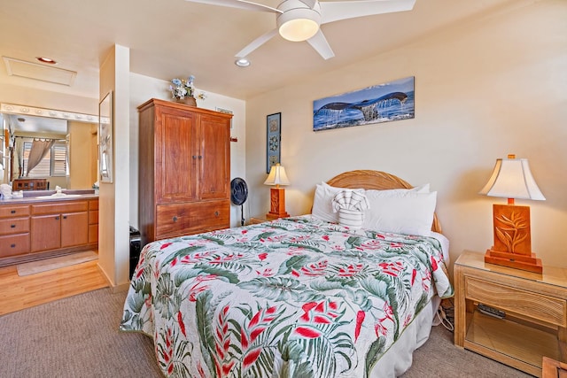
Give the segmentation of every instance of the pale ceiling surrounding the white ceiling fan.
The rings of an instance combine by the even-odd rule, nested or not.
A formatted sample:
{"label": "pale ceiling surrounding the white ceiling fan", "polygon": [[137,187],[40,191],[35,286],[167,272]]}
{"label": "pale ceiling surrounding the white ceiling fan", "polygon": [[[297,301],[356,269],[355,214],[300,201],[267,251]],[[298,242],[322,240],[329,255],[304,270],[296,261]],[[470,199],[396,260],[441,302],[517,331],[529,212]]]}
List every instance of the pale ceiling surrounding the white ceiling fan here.
{"label": "pale ceiling surrounding the white ceiling fan", "polygon": [[0,82],[97,98],[98,67],[116,43],[130,49],[131,72],[167,81],[193,74],[198,89],[247,99],[535,1],[417,0],[410,12],[323,25],[335,58],[323,60],[307,42],[276,36],[252,52],[252,66],[239,68],[234,55],[276,26],[273,14],[184,0],[3,0],[0,54],[31,62],[53,58],[77,75],[66,86],[8,76],[0,66]]}

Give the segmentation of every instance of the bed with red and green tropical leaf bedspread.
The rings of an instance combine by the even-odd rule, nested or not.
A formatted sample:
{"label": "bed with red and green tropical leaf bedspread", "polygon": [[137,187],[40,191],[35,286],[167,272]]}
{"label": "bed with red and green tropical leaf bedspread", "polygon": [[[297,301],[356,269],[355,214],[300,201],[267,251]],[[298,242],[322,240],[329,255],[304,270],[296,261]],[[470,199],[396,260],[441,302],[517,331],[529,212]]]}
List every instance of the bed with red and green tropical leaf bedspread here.
{"label": "bed with red and green tropical leaf bedspread", "polygon": [[405,233],[369,228],[392,217],[345,226],[329,212],[338,191],[369,197],[366,212],[422,197],[434,208],[429,188],[359,170],[318,184],[311,214],[149,243],[120,330],[153,338],[165,376],[403,374],[453,296],[447,238],[434,212],[419,229],[392,228]]}

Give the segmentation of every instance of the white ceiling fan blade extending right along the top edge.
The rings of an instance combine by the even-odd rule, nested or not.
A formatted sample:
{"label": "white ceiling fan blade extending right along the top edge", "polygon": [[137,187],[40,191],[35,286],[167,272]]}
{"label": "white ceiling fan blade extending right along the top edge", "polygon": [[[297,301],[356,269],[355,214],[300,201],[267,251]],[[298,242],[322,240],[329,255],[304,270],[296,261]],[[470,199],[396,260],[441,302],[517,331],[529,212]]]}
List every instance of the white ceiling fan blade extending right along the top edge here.
{"label": "white ceiling fan blade extending right along the top edge", "polygon": [[416,0],[361,0],[320,2],[321,24],[374,14],[411,11]]}

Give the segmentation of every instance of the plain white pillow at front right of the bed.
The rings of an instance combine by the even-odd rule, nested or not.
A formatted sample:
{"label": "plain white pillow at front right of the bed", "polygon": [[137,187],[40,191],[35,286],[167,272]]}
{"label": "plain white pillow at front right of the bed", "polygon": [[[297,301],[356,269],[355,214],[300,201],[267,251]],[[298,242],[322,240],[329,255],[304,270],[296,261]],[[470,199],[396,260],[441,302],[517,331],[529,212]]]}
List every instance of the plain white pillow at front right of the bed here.
{"label": "plain white pillow at front right of the bed", "polygon": [[366,190],[369,210],[363,228],[396,234],[423,235],[431,231],[437,192]]}

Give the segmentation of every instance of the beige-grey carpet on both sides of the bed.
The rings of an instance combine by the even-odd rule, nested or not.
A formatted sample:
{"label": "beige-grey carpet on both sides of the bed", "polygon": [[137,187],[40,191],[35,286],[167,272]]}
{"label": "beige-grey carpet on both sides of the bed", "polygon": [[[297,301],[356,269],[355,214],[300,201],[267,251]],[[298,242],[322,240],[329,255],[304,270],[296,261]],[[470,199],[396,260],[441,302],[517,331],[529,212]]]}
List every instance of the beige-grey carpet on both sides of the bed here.
{"label": "beige-grey carpet on both sides of the bed", "polygon": [[[118,330],[125,298],[126,292],[98,289],[0,316],[0,377],[163,378],[151,338]],[[455,347],[441,326],[433,327],[403,375],[468,377],[530,375]]]}

